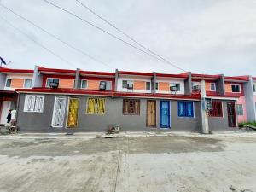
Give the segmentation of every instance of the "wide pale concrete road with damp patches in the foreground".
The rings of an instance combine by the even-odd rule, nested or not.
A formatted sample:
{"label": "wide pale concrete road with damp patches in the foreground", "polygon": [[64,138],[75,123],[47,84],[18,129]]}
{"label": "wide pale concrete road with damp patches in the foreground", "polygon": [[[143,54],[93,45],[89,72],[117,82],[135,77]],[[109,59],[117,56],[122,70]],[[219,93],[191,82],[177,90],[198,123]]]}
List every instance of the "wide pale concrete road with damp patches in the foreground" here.
{"label": "wide pale concrete road with damp patches in the foreground", "polygon": [[0,191],[256,191],[256,136],[2,137]]}

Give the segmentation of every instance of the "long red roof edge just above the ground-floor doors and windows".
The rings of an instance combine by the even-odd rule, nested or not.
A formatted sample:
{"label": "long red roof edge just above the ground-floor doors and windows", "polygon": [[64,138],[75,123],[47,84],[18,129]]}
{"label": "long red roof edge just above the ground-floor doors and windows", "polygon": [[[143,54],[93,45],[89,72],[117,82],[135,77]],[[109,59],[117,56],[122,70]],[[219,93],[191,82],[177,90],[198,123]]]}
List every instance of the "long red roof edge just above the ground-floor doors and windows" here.
{"label": "long red roof edge just above the ground-floor doors and windows", "polygon": [[17,92],[40,92],[40,93],[65,93],[65,94],[79,94],[79,95],[97,95],[97,96],[137,96],[137,97],[156,97],[156,98],[173,98],[173,99],[193,99],[200,100],[200,95],[171,95],[159,93],[127,93],[127,92],[113,92],[113,91],[100,91],[100,90],[73,90],[73,89],[17,89]]}

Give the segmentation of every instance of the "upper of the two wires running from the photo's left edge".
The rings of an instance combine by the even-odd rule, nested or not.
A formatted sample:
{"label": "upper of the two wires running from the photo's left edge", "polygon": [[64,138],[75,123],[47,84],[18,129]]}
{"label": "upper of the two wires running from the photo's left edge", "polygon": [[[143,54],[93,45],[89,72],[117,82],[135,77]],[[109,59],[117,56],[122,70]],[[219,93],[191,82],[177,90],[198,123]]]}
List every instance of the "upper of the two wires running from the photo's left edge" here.
{"label": "upper of the two wires running from the photo's left edge", "polygon": [[[9,9],[8,7],[4,6],[2,3],[0,3],[0,6],[2,6],[4,9],[8,9],[11,13],[13,13],[14,15],[20,17],[22,20],[26,20],[26,22],[30,23],[32,26],[35,26],[35,27],[38,28],[39,30],[41,30],[41,31],[43,31],[43,32],[45,32],[45,33],[47,33],[47,34],[48,34],[49,36],[51,36],[52,38],[57,39],[57,40],[60,41],[62,44],[67,45],[67,47],[78,51],[79,53],[81,53],[81,54],[83,54],[83,55],[89,57],[89,58],[90,58],[91,60],[93,60],[93,61],[99,62],[99,63],[101,63],[102,65],[105,65],[105,66],[107,66],[107,67],[110,67],[110,66],[108,66],[106,63],[104,63],[104,62],[102,62],[102,61],[99,61],[99,60],[97,60],[96,58],[94,58],[93,56],[90,56],[89,54],[85,53],[83,50],[74,47],[72,44],[68,44],[67,42],[65,42],[65,41],[62,40],[61,38],[58,38],[57,36],[55,36],[53,33],[49,32],[49,31],[45,30],[44,28],[42,28],[41,26],[38,26],[37,24],[33,23],[31,20],[26,19],[26,17],[24,17],[24,16],[22,16],[22,15],[16,13],[13,9]],[[110,67],[110,68],[111,68],[111,67]]]}

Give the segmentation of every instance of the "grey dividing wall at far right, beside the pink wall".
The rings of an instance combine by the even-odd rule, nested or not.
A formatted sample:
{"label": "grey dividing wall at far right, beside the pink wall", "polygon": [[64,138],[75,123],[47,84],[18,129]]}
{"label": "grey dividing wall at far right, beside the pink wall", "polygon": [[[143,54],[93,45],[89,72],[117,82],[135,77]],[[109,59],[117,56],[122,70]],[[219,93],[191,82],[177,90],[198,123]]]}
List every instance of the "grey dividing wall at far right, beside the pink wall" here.
{"label": "grey dividing wall at far right, beside the pink wall", "polygon": [[247,121],[256,120],[256,109],[253,96],[253,78],[249,76],[247,83],[244,83],[244,94],[247,108]]}

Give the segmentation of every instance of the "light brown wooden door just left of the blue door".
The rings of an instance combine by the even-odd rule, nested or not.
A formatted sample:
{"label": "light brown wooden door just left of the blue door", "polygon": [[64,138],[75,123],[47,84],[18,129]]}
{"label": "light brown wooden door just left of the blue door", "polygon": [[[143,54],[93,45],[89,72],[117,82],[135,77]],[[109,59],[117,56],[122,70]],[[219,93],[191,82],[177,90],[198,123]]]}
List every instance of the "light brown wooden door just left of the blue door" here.
{"label": "light brown wooden door just left of the blue door", "polygon": [[156,102],[154,100],[147,101],[147,126],[156,127]]}

